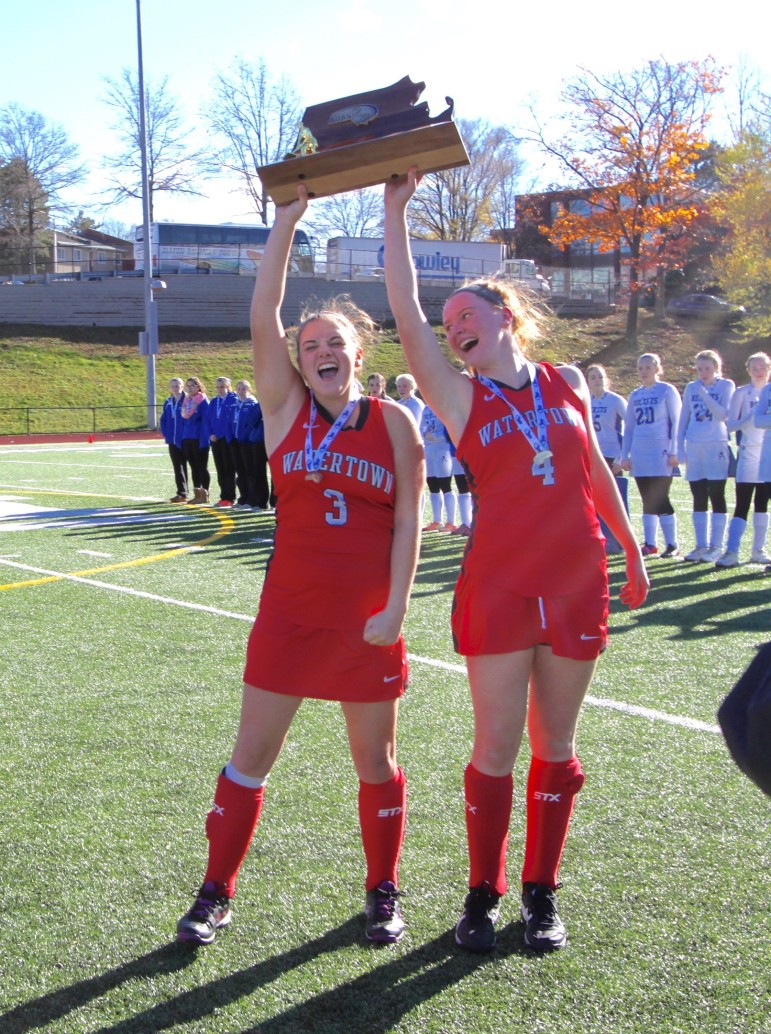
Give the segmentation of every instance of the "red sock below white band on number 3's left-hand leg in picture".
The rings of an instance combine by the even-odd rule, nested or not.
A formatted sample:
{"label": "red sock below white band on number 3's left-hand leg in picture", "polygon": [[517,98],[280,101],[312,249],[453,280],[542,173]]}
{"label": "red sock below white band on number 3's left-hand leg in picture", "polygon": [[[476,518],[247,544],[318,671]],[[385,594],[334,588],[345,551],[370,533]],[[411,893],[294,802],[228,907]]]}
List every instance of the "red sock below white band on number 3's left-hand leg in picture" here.
{"label": "red sock below white band on number 3's left-hand leg in picture", "polygon": [[209,840],[209,864],[206,881],[224,886],[233,898],[241,864],[249,850],[259,813],[265,787],[241,786],[220,772],[212,810],[206,819]]}

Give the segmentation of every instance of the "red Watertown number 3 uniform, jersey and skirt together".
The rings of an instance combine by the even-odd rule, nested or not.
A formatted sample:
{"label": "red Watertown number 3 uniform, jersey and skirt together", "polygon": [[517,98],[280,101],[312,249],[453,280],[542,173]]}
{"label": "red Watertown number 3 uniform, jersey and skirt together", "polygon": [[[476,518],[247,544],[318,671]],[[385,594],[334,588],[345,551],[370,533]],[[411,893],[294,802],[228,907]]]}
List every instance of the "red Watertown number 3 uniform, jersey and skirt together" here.
{"label": "red Watertown number 3 uniform, jersey and skirt together", "polygon": [[[389,647],[363,639],[391,581],[396,479],[383,404],[392,403],[361,400],[356,427],[332,442],[318,482],[306,467],[310,394],[270,457],[276,543],[247,649],[250,686],[327,700],[404,692],[402,639]],[[317,415],[314,449],[329,427]]]}

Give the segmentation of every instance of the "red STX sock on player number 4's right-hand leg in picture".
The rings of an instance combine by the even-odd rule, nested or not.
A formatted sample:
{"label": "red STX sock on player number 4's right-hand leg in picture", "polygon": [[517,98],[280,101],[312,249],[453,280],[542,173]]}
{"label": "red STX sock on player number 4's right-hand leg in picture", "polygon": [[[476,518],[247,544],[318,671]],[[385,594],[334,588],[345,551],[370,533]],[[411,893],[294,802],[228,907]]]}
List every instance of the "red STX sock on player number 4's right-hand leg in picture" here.
{"label": "red STX sock on player number 4's right-hand leg in picture", "polygon": [[567,828],[576,794],[584,785],[584,771],[577,757],[569,761],[533,758],[527,777],[527,837],[523,883],[559,883]]}

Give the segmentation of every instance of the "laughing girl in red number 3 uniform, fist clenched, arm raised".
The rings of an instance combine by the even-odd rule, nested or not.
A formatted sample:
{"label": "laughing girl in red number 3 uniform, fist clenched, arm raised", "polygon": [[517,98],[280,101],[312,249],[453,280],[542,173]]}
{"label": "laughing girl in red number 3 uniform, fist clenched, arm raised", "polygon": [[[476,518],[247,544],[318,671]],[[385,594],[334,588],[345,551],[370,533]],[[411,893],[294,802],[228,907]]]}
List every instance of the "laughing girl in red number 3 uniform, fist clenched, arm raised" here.
{"label": "laughing girl in red number 3 uniform, fist clenched, arm raised", "polygon": [[[406,784],[396,763],[407,676],[402,624],[418,562],[423,451],[414,421],[360,395],[362,331],[350,303],[301,321],[299,370],[280,308],[295,226],[307,206],[277,208],[251,307],[255,383],[278,495],[276,544],[249,638],[241,723],[207,819],[209,863],[178,940],[209,944],[230,921],[239,869],[268,774],[304,697],[339,700],[359,777],[366,936],[398,941],[397,866]],[[367,571],[362,576],[363,570]]]}

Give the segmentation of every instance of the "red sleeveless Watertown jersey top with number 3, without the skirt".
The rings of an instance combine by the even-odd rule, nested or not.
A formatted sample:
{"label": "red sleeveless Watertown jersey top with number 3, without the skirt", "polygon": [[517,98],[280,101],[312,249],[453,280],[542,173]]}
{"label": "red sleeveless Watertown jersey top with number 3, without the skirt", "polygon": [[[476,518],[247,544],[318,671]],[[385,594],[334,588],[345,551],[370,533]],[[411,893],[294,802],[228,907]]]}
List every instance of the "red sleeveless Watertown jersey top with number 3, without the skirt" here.
{"label": "red sleeveless Watertown jersey top with number 3, without the skirt", "polygon": [[[362,399],[357,427],[330,444],[315,482],[307,479],[305,457],[308,394],[270,457],[278,497],[276,545],[260,609],[318,628],[357,629],[385,606],[396,483],[382,407],[395,404]],[[329,429],[317,414],[314,449]]]}

